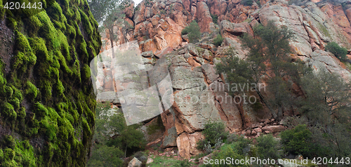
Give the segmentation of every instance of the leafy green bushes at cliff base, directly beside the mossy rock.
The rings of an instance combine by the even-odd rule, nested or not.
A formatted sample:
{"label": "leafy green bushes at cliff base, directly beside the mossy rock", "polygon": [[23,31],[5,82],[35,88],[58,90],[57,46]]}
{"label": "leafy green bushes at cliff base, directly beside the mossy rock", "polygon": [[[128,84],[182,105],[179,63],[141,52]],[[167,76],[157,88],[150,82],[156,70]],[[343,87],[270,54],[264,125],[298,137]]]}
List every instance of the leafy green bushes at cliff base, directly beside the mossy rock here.
{"label": "leafy green bushes at cliff base, directly beside the mossy rock", "polygon": [[[144,150],[146,140],[138,125],[127,126],[124,115],[117,109],[110,108],[110,103],[98,103],[96,106],[96,124],[93,136],[92,157],[89,166],[121,166],[119,160],[138,150]],[[109,154],[113,156],[108,156]],[[118,153],[118,154],[117,154]],[[93,155],[96,155],[94,157]],[[99,155],[101,154],[101,155]],[[103,155],[102,155],[103,154]],[[117,164],[108,164],[110,161]]]}

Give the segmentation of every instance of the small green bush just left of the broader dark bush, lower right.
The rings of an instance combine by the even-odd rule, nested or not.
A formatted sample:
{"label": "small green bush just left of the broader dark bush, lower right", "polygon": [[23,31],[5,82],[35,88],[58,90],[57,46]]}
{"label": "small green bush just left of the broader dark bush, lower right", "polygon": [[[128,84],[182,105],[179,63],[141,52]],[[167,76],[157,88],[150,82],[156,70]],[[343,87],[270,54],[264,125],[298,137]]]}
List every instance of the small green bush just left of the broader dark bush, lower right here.
{"label": "small green bush just left of the broader dark bush, lower right", "polygon": [[280,158],[279,151],[278,151],[278,144],[279,142],[275,140],[272,134],[267,134],[264,136],[260,136],[256,138],[258,147],[258,154],[262,159],[278,159]]}

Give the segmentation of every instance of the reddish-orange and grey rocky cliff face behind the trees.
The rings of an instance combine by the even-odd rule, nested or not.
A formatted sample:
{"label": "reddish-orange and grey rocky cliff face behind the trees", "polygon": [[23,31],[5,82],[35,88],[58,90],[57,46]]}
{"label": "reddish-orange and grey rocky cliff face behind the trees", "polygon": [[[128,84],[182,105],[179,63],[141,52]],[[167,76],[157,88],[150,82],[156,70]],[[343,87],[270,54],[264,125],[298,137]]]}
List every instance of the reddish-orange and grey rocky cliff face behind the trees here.
{"label": "reddish-orange and grey rocky cliff face behind the trees", "polygon": [[[124,18],[128,28],[116,25],[117,45],[138,41],[144,64],[163,66],[167,70],[159,73],[171,75],[174,103],[161,113],[166,129],[160,136],[162,147],[178,147],[180,155],[186,158],[198,154],[196,143],[203,138],[201,130],[208,120],[221,119],[228,131],[246,135],[284,130],[279,122],[270,119],[272,115],[260,101],[257,103],[262,107],[256,108],[229,96],[225,75],[218,75],[213,65],[233,48],[234,55],[245,59],[247,51],[241,48],[239,36],[253,35],[253,27],[258,23],[273,20],[277,26],[293,31],[295,37],[290,41],[293,59],[302,59],[316,71],[326,68],[351,78],[350,69],[324,50],[326,43],[332,41],[351,48],[351,3],[304,1],[298,4],[284,0],[253,1],[251,6],[244,6],[238,0],[155,0],[143,1],[135,10],[129,8]],[[213,22],[211,15],[218,16],[218,23]],[[202,33],[199,43],[194,44],[188,43],[187,36],[181,34],[192,20],[197,20]],[[217,34],[224,38],[218,47],[212,44]],[[102,37],[102,41],[107,41],[102,52],[110,48],[107,38]],[[111,68],[104,70],[113,71]],[[105,81],[101,74],[100,89],[130,84],[117,84],[114,80],[106,84]],[[259,99],[254,93],[249,96]],[[206,101],[201,97],[206,97]],[[293,114],[292,110],[284,111],[284,115]],[[247,128],[251,130],[243,131]]]}

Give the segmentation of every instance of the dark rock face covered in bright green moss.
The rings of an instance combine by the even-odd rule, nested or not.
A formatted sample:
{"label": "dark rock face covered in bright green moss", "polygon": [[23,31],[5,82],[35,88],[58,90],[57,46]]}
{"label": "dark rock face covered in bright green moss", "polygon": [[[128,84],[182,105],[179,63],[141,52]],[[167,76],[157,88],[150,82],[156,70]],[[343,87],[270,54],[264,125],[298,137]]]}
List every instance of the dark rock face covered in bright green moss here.
{"label": "dark rock face covered in bright green moss", "polygon": [[13,36],[0,50],[0,166],[86,166],[96,105],[88,64],[101,47],[88,3],[23,0],[43,8],[14,12],[0,1]]}

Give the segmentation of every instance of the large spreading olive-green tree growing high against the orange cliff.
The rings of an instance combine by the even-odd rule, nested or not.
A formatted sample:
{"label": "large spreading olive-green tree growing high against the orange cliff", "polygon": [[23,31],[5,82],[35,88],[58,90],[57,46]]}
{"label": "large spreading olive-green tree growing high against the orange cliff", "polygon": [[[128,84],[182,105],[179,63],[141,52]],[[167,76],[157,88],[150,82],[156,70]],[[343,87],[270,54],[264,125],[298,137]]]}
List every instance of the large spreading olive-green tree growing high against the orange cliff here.
{"label": "large spreading olive-green tree growing high against the orange cliff", "polygon": [[[300,75],[309,71],[309,68],[300,60],[292,62],[289,57],[292,52],[289,39],[293,38],[293,34],[287,27],[278,28],[270,21],[265,27],[258,24],[253,30],[254,37],[244,34],[241,38],[242,46],[249,49],[246,61],[230,55],[223,59],[223,64],[216,65],[217,72],[226,73],[230,83],[244,85],[251,82],[260,101],[267,106],[273,117],[279,118],[282,117],[283,108],[293,103],[289,80],[300,82]],[[267,89],[272,94],[269,100],[256,87],[262,76],[269,83]]]}

